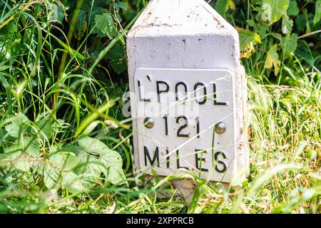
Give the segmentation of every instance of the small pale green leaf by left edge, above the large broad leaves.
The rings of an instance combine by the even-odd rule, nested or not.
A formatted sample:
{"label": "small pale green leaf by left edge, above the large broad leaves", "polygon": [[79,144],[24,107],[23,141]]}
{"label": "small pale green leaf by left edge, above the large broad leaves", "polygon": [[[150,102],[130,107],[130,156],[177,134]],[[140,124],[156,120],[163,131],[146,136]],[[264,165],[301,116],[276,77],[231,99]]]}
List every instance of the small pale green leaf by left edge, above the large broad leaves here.
{"label": "small pale green leaf by left edge, above the large broad leaves", "polygon": [[8,120],[9,125],[6,125],[6,132],[13,138],[19,138],[20,135],[24,135],[29,130],[30,120],[26,115],[18,113],[14,117]]}

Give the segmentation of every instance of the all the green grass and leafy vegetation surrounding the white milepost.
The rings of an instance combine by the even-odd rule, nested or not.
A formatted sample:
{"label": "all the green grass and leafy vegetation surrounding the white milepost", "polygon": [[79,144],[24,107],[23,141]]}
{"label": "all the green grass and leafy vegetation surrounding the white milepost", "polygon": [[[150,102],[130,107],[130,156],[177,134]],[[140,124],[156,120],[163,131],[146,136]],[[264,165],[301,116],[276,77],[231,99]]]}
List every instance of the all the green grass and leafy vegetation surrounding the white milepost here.
{"label": "all the green grass and leafy vegetation surrounding the white milepost", "polygon": [[[0,212],[320,213],[321,1],[210,1],[248,73],[250,177],[228,188],[133,173],[126,33],[147,3],[0,1]],[[190,203],[168,182],[186,177]]]}

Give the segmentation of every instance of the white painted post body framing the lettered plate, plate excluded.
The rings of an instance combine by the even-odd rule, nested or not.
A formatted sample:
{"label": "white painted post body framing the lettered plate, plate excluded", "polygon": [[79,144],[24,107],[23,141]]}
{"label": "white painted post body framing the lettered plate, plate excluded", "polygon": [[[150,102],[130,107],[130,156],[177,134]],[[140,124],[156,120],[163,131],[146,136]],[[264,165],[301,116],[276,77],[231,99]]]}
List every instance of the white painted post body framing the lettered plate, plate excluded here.
{"label": "white painted post body framing the lettered plate, plate excluded", "polygon": [[[237,170],[249,172],[247,83],[240,65],[238,32],[203,0],[152,0],[127,37],[130,90],[138,68],[227,69],[235,81]],[[131,96],[131,111],[137,113]],[[139,169],[138,120],[133,119],[135,164]]]}

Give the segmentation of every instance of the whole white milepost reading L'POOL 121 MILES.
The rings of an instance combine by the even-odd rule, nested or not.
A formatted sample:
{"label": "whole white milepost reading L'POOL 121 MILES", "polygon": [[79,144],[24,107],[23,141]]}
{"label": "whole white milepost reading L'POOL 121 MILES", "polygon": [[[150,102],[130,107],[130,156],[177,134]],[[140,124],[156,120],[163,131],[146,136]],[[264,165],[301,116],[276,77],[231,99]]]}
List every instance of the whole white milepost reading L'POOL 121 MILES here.
{"label": "whole white milepost reading L'POOL 121 MILES", "polygon": [[135,166],[213,182],[249,172],[238,32],[203,0],[151,0],[127,37]]}

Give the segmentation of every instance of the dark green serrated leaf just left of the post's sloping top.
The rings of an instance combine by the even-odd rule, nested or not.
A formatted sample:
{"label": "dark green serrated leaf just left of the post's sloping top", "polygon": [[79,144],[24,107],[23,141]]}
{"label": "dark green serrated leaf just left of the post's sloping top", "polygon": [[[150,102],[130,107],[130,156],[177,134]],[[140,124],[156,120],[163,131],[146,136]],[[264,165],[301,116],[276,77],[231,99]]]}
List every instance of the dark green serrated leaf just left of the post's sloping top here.
{"label": "dark green serrated leaf just left of the post's sloping top", "polygon": [[113,24],[113,17],[110,14],[104,13],[101,15],[96,15],[95,23],[96,28],[98,28],[103,36],[107,36],[110,39],[115,36],[116,28]]}

